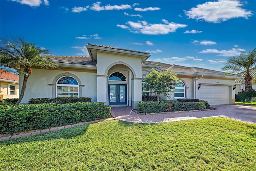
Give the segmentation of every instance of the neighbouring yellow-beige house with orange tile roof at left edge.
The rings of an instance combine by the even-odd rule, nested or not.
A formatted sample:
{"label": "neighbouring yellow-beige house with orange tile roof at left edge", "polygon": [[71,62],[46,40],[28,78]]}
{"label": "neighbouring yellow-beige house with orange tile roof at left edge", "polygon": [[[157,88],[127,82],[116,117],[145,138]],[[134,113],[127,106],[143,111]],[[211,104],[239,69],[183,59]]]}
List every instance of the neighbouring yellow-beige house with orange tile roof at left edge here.
{"label": "neighbouring yellow-beige house with orange tile roof at left edge", "polygon": [[19,76],[11,72],[0,71],[0,100],[19,98]]}

